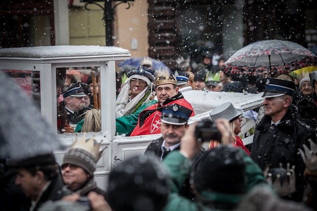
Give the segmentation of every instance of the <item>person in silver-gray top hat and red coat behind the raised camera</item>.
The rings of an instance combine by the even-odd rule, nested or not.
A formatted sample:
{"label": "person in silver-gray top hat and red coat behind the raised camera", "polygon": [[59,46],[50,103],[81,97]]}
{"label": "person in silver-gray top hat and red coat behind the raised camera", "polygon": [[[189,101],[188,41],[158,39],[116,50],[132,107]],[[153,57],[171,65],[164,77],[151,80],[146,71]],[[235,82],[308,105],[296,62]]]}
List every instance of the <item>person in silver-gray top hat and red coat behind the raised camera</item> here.
{"label": "person in silver-gray top hat and red coat behind the raised camera", "polygon": [[[211,110],[210,117],[212,121],[215,121],[219,118],[227,119],[230,125],[229,131],[231,143],[235,146],[241,147],[248,155],[250,155],[250,151],[244,146],[241,138],[238,136],[238,134],[241,132],[242,118],[240,116],[242,113],[242,109],[235,108],[230,102],[228,102]],[[218,144],[219,142],[217,140],[211,140],[209,148],[217,147]]]}

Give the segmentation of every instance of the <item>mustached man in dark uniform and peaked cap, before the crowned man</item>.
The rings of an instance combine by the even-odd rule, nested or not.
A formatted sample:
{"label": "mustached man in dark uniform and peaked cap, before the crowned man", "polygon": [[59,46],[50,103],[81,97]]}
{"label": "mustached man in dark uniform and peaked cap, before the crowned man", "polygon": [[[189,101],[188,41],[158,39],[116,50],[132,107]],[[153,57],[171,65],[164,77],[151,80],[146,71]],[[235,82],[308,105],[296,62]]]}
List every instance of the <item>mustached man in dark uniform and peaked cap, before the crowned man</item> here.
{"label": "mustached man in dark uniform and peaked cap, before the crowned man", "polygon": [[152,141],[145,154],[162,160],[169,152],[180,149],[180,139],[188,128],[187,121],[193,111],[178,104],[161,107],[159,111],[162,137]]}

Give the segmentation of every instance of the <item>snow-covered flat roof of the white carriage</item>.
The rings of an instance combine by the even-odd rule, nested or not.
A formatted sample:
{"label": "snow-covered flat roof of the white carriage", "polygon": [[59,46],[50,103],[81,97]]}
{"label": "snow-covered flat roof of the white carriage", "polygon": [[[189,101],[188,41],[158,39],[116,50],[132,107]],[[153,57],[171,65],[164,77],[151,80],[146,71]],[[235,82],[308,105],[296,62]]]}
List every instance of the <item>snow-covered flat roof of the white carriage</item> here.
{"label": "snow-covered flat roof of the white carriage", "polygon": [[108,46],[38,46],[0,49],[0,57],[21,57],[52,59],[56,57],[77,57],[77,56],[130,56],[126,49]]}

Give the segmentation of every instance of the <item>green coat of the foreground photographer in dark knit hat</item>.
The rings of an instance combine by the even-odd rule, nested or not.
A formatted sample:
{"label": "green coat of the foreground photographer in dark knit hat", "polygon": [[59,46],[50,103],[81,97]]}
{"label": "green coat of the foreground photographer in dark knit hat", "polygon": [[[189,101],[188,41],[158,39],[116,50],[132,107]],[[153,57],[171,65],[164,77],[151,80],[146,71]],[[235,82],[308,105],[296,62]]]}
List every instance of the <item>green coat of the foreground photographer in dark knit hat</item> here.
{"label": "green coat of the foreground photographer in dark knit hat", "polygon": [[[263,172],[260,167],[241,150],[243,159],[246,165],[247,174],[247,191],[250,191],[252,187],[258,184],[267,184]],[[171,194],[168,197],[168,203],[164,208],[164,211],[212,211],[210,208],[204,207],[202,204],[195,201],[191,201],[187,198],[178,195],[182,184],[184,183],[186,176],[190,173],[191,162],[185,158],[179,151],[172,151],[163,160],[163,163],[167,166],[169,175],[172,179],[171,182]],[[204,197],[218,202],[230,202],[239,203],[242,195],[223,194],[216,192],[203,192]]]}

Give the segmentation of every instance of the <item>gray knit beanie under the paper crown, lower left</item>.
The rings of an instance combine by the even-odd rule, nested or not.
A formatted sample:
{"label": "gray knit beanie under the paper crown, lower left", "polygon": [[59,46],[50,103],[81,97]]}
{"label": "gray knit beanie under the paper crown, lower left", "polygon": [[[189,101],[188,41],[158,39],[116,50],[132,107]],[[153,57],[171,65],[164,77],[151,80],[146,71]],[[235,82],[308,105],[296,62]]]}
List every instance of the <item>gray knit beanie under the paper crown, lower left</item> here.
{"label": "gray knit beanie under the paper crown, lower left", "polygon": [[88,151],[73,148],[70,149],[64,156],[62,166],[64,164],[74,164],[85,169],[91,176],[94,175],[96,170],[96,158],[90,154]]}

